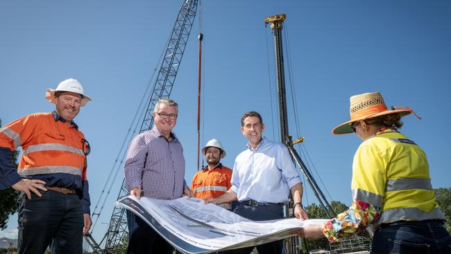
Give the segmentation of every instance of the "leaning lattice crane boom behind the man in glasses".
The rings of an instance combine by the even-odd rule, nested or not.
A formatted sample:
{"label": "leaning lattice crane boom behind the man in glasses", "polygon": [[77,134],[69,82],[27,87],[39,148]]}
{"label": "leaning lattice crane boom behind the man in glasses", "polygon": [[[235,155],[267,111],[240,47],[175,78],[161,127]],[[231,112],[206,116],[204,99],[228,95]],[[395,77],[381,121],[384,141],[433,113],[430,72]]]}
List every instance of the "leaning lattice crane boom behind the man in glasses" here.
{"label": "leaning lattice crane boom behind the man in glasses", "polygon": [[[139,133],[143,133],[146,130],[152,128],[153,117],[152,112],[155,108],[155,104],[159,99],[169,99],[172,87],[176,80],[178,67],[182,60],[185,46],[191,32],[194,18],[196,17],[198,0],[183,0],[180,11],[176,18],[176,23],[173,26],[171,37],[167,44],[166,52],[162,60],[160,71],[155,79],[155,84],[151,92],[151,98],[148,102],[144,120],[142,121]],[[128,195],[128,189],[126,189],[125,180],[122,181],[121,189],[117,196],[117,199]],[[93,248],[94,253],[114,253],[116,246],[121,243],[124,233],[127,232],[127,219],[126,212],[123,208],[115,207],[108,230],[105,236],[101,240],[100,244],[96,244],[90,234],[85,236],[88,244]],[[101,251],[101,244],[105,241],[105,247]]]}

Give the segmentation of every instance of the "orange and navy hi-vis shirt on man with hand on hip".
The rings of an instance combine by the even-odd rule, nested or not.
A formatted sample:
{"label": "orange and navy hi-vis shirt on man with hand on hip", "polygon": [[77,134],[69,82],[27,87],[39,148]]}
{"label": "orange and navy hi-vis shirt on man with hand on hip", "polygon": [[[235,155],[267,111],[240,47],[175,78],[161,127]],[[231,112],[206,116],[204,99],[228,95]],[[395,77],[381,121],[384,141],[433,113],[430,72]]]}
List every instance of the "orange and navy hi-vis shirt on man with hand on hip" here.
{"label": "orange and navy hi-vis shirt on man with hand on hip", "polygon": [[[19,167],[12,163],[11,151],[22,146]],[[83,213],[90,214],[85,135],[71,121],[67,125],[58,112],[35,113],[0,128],[0,189],[21,178],[39,179],[49,187],[76,189]]]}

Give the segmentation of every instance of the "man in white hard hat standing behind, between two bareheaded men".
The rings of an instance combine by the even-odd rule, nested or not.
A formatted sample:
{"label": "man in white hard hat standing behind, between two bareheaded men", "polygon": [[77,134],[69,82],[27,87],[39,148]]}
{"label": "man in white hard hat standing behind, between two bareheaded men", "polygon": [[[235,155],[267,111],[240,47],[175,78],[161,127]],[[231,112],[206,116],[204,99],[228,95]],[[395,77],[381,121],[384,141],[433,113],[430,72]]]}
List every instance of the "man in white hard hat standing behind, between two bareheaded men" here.
{"label": "man in white hard hat standing behind, between two bareheaded men", "polygon": [[[218,139],[211,139],[207,142],[202,153],[208,165],[194,175],[192,191],[196,198],[216,198],[226,193],[232,186],[230,184],[232,169],[224,167],[220,162],[222,158],[226,157],[226,151]],[[228,210],[232,208],[231,203],[224,203],[220,206]]]}

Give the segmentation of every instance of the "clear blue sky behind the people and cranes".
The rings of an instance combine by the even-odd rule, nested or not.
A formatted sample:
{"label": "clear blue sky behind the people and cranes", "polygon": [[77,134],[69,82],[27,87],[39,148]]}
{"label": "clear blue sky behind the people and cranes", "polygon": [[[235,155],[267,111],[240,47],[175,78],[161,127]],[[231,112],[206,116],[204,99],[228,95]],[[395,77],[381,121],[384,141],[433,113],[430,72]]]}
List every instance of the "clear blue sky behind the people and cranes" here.
{"label": "clear blue sky behind the people and cranes", "polygon": [[[180,3],[0,2],[3,124],[53,110],[44,92],[65,78],[77,78],[94,99],[76,117],[92,146],[92,211],[142,94],[149,82],[153,84],[151,76],[159,67]],[[227,151],[223,164],[232,167],[244,149],[246,139],[239,130],[244,112],[260,112],[264,135],[279,139],[273,35],[263,19],[284,12],[289,133],[305,137],[300,154],[323,191],[327,189],[327,197],[350,203],[352,156],[360,140],[332,135],[331,130],[348,120],[349,97],[363,92],[380,91],[387,105],[410,106],[423,117],[406,117],[401,130],[427,153],[433,187],[450,187],[450,1],[203,1],[202,10],[201,143],[220,139]],[[199,31],[198,15],[171,94],[180,105],[175,132],[185,149],[188,183],[197,163]],[[98,241],[122,177],[119,171],[94,229]],[[316,203],[305,186],[304,202]],[[17,227],[16,216],[9,225],[2,234]]]}

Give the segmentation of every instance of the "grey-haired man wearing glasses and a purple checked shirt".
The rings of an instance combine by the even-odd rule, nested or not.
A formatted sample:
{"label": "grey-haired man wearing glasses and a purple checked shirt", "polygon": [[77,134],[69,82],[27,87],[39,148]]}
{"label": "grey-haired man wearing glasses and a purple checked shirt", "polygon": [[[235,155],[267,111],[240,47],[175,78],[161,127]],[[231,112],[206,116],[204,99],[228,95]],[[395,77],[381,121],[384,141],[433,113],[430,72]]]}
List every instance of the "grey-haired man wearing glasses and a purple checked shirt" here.
{"label": "grey-haired man wearing glasses and a purple checked shirt", "polygon": [[[153,110],[155,126],[137,135],[128,146],[125,163],[126,188],[137,198],[176,199],[192,197],[185,182],[183,148],[172,132],[178,105],[160,99]],[[133,212],[127,211],[127,253],[173,253],[173,247]]]}

